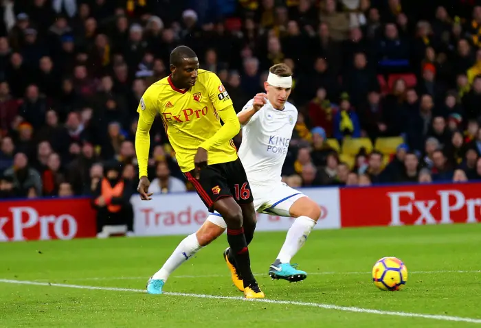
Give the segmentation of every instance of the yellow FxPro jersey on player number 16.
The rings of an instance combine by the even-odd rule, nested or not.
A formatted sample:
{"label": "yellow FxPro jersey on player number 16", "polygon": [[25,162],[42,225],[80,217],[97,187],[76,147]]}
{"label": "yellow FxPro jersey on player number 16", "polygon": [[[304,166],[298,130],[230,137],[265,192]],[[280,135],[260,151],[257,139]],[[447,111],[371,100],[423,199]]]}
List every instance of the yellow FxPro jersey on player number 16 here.
{"label": "yellow FxPro jersey on player number 16", "polygon": [[[220,117],[224,123],[226,118],[237,120],[232,100],[215,73],[199,69],[195,85],[182,90],[172,84],[170,76],[163,78],[146,90],[137,112],[139,124],[142,120],[149,127],[159,113],[182,172],[194,169],[194,156],[200,146],[208,150],[208,165],[237,159],[232,137],[238,131],[221,144],[210,139],[221,129]],[[136,141],[138,147],[142,144]],[[139,163],[140,171],[143,166]]]}

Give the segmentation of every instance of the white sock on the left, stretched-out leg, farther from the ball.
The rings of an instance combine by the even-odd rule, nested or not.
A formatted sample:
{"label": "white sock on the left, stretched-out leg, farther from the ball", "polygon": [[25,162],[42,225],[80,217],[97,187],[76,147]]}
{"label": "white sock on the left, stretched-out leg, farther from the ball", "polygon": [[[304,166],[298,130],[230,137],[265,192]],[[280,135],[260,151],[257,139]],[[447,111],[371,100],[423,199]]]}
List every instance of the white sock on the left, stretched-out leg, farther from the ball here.
{"label": "white sock on the left, stretched-out leg, farther from the ball", "polygon": [[172,274],[175,269],[179,268],[183,262],[187,261],[192,255],[197,253],[199,249],[201,249],[201,245],[199,245],[195,233],[188,235],[180,242],[179,246],[175,248],[174,253],[170,255],[166,263],[164,263],[164,266],[162,266],[159,271],[155,272],[152,279],[160,279],[164,282],[167,281],[170,274]]}

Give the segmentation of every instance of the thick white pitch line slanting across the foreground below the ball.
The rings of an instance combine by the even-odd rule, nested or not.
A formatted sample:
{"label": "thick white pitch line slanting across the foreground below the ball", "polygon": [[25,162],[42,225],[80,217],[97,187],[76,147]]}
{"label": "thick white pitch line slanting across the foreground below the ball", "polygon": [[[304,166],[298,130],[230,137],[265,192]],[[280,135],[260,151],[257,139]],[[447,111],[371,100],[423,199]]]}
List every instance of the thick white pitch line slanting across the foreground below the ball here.
{"label": "thick white pitch line slanting across the foreground below the ball", "polygon": [[[40,285],[40,286],[55,286],[55,287],[65,287],[65,288],[78,288],[83,290],[112,290],[115,292],[138,292],[145,293],[145,290],[135,290],[130,288],[113,288],[113,287],[98,287],[98,286],[85,286],[85,285],[67,285],[63,283],[39,283],[36,281],[21,281],[21,280],[8,280],[0,279],[0,283],[16,283],[23,285]],[[364,309],[362,307],[348,307],[339,306],[333,304],[322,304],[322,303],[311,303],[311,302],[297,302],[297,301],[278,301],[266,298],[253,298],[246,300],[240,296],[218,296],[218,295],[208,295],[208,294],[188,294],[188,293],[175,293],[175,292],[165,292],[166,295],[172,296],[183,296],[192,298],[212,298],[212,299],[225,299],[232,301],[251,301],[258,303],[271,303],[271,304],[282,304],[282,305],[299,305],[307,307],[320,307],[322,309],[335,309],[338,311],[345,312],[357,312],[357,313],[368,313],[368,314],[381,314],[383,316],[403,316],[408,318],[425,318],[433,320],[443,320],[443,321],[457,321],[464,323],[480,323],[481,319],[475,318],[463,318],[460,316],[442,316],[436,314],[421,314],[421,313],[410,313],[410,312],[394,312],[394,311],[382,311],[379,309]],[[155,297],[155,296],[153,296]]]}

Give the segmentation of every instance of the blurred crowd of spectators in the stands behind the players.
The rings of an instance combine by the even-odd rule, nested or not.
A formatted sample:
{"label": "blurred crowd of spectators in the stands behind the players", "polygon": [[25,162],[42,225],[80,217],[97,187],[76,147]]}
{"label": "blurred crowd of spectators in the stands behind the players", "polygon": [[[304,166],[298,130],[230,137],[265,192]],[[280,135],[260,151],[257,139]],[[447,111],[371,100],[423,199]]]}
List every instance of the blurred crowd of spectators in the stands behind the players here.
{"label": "blurred crowd of spectators in the stands behind the players", "polygon": [[[236,110],[293,69],[293,187],[478,179],[481,1],[424,2],[1,0],[0,198],[95,194],[113,161],[134,192],[137,105],[177,45]],[[192,189],[150,137],[151,191]]]}

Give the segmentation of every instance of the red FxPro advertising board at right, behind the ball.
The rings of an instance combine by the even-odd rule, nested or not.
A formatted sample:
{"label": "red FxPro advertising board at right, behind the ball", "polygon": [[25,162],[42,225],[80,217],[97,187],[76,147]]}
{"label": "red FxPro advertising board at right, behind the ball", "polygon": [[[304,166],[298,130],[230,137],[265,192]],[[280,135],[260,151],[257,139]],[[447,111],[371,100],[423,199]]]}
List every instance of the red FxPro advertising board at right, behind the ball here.
{"label": "red FxPro advertising board at right, behind the ball", "polygon": [[340,191],[342,227],[481,221],[481,183],[342,188]]}

